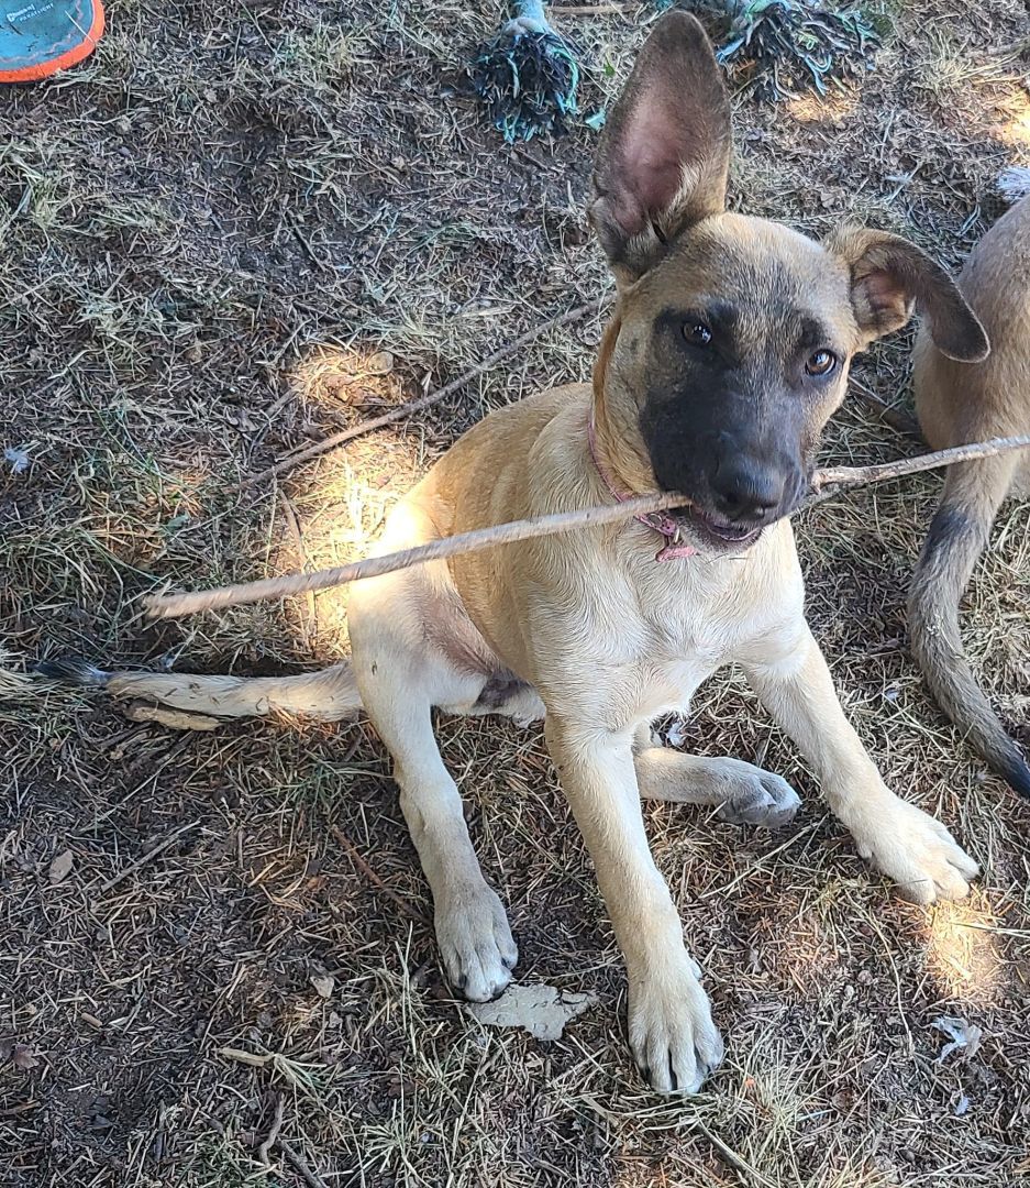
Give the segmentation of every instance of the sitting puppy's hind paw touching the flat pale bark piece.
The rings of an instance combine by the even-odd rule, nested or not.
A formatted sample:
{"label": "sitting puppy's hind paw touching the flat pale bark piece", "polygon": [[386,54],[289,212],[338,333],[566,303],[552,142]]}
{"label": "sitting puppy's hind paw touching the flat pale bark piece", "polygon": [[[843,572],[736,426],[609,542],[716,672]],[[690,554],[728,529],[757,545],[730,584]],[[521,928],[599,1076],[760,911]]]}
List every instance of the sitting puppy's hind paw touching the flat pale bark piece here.
{"label": "sitting puppy's hind paw touching the flat pale bark piece", "polygon": [[473,1003],[489,1003],[511,980],[519,949],[508,916],[485,883],[454,889],[435,906],[437,943],[447,980]]}

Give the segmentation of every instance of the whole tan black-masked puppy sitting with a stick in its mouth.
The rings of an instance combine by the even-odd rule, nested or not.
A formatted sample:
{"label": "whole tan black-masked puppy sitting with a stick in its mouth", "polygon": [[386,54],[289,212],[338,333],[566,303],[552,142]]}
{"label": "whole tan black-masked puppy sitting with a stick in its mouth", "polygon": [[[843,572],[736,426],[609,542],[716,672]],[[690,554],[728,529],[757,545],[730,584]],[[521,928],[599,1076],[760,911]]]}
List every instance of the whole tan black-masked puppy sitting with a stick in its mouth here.
{"label": "whole tan black-masked puppy sitting with a stick in its mouth", "polygon": [[[723,1057],[699,969],[648,848],[641,796],[782,824],[778,776],[651,745],[649,725],[740,664],[821,779],[858,852],[918,903],[977,864],[885,785],[803,613],[790,522],[852,355],[918,304],[950,359],[987,353],[948,277],[892,235],[819,245],[729,214],[730,103],[693,17],[640,53],[600,138],[591,215],[618,284],[592,388],[501,409],[399,505],[382,551],[520,517],[676,491],[667,517],[526,541],[354,587],[352,663],[312,676],[95,674],[120,696],[212,714],[363,707],[390,751],[451,982],[498,994],[517,958],[487,885],[432,710],[545,718],[629,975],[629,1041],[659,1091],[695,1093]],[[656,556],[656,554],[659,556]]]}

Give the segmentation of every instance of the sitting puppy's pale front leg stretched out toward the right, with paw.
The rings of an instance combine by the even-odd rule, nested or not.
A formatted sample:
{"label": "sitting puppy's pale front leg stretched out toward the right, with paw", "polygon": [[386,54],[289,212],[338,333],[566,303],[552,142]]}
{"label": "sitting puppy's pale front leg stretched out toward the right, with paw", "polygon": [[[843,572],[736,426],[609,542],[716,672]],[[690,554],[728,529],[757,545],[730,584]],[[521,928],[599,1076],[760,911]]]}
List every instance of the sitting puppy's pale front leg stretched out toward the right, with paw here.
{"label": "sitting puppy's pale front leg stretched out toward the right, with paw", "polygon": [[917,903],[960,899],[977,864],[934,817],[891,792],[844,716],[829,669],[808,625],[742,657],[748,680],[794,739],[822,784],[834,815],[863,858]]}

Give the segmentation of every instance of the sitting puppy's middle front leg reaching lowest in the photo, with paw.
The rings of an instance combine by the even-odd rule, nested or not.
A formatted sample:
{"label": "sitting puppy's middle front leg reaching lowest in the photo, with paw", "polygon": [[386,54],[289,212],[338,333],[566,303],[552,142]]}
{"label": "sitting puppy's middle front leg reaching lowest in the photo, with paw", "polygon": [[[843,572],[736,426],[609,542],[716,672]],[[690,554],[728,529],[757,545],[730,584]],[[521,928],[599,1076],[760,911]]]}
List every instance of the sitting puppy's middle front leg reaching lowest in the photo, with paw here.
{"label": "sitting puppy's middle front leg reaching lowest in the photo, with paw", "polygon": [[697,1093],[721,1061],[723,1041],[651,858],[630,737],[564,722],[549,712],[546,732],[625,958],[632,1054],[654,1088]]}

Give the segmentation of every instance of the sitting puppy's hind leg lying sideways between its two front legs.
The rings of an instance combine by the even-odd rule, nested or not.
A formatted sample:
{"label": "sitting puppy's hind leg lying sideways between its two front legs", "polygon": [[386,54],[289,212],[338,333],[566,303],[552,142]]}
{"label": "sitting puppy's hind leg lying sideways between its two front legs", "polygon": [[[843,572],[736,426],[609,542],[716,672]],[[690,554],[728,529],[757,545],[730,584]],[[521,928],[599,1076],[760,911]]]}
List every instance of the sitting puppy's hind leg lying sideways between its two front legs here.
{"label": "sitting puppy's hind leg lying sideways between its two front legs", "polygon": [[735,824],[770,828],[794,819],[801,801],[780,776],[742,759],[684,754],[654,746],[650,727],[637,731],[634,763],[646,801],[718,805],[717,816]]}

